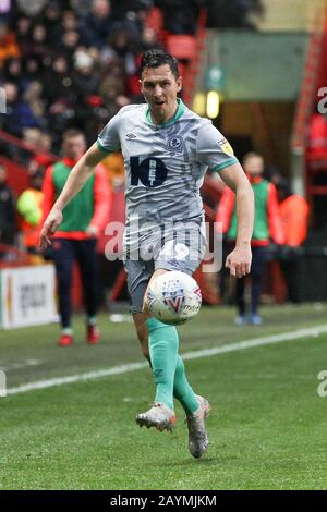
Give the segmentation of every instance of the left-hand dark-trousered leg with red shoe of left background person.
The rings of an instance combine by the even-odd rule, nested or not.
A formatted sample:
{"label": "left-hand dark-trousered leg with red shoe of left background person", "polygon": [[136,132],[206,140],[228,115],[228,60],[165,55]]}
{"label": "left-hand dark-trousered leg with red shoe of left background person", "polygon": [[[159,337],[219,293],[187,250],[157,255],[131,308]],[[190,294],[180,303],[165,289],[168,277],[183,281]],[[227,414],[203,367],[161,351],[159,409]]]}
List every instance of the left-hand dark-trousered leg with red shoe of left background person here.
{"label": "left-hand dark-trousered leg with red shoe of left background person", "polygon": [[60,346],[73,343],[71,328],[71,285],[74,264],[74,252],[70,240],[55,239],[52,242],[53,261],[58,279],[59,315],[61,322],[61,336],[58,340]]}

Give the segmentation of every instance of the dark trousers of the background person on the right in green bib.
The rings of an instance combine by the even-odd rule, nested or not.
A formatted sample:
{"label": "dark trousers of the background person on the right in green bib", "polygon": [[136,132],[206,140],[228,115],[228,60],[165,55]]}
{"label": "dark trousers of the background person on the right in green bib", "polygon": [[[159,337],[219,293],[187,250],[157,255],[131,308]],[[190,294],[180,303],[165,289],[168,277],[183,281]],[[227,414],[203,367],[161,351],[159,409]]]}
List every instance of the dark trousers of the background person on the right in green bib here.
{"label": "dark trousers of the background person on the right in green bib", "polygon": [[[257,314],[261,292],[262,292],[262,278],[266,261],[266,246],[252,247],[252,266],[251,266],[251,313]],[[245,291],[246,277],[237,279],[237,306],[239,315],[245,315]]]}

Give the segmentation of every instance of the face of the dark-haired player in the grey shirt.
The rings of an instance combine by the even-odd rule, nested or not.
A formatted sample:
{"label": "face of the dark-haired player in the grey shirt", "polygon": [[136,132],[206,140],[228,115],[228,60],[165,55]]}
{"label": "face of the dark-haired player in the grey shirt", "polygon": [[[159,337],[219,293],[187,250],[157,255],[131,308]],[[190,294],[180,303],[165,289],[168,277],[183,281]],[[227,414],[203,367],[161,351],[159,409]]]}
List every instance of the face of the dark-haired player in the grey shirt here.
{"label": "face of the dark-haired player in the grey shirt", "polygon": [[165,123],[173,118],[177,109],[177,95],[181,88],[182,78],[174,77],[169,64],[145,68],[141,78],[141,92],[155,122]]}

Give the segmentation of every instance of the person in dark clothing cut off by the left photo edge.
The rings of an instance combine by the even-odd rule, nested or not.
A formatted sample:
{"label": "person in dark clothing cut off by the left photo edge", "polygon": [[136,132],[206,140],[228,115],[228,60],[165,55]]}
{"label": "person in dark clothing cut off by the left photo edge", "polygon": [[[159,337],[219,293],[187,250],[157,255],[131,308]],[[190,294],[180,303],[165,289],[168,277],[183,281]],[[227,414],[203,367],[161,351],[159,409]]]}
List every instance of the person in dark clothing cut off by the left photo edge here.
{"label": "person in dark clothing cut off by the left photo edge", "polygon": [[[7,183],[7,169],[0,163],[0,244],[13,245],[16,235],[15,197]],[[0,252],[3,257],[4,252]]]}

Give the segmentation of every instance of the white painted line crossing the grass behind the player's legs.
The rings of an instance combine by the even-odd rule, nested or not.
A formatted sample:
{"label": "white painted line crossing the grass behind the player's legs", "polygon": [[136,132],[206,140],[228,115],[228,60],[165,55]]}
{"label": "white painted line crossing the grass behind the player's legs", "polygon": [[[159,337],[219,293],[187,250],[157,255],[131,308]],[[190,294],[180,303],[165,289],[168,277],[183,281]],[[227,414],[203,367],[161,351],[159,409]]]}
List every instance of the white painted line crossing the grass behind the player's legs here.
{"label": "white painted line crossing the grass behind the player's legs", "polygon": [[[198,359],[201,357],[210,357],[213,355],[227,354],[228,352],[234,352],[245,349],[253,349],[254,346],[271,345],[274,343],[281,343],[283,341],[294,341],[301,338],[317,338],[319,334],[327,332],[327,325],[312,327],[308,329],[299,329],[292,332],[282,332],[280,334],[272,334],[265,338],[254,338],[252,340],[239,341],[237,343],[230,343],[227,345],[215,346],[213,349],[204,349],[194,352],[185,352],[182,354],[183,359]],[[68,377],[59,377],[48,380],[39,380],[37,382],[29,382],[16,388],[10,388],[7,390],[7,394],[19,394],[26,393],[27,391],[34,391],[36,389],[52,388],[53,386],[62,386],[72,382],[81,382],[83,380],[100,379],[109,377],[111,375],[128,374],[130,371],[136,371],[147,367],[147,363],[131,363],[121,366],[113,366],[112,368],[99,369],[95,371],[88,371],[87,374],[71,375]]]}

